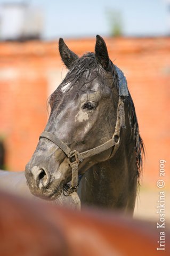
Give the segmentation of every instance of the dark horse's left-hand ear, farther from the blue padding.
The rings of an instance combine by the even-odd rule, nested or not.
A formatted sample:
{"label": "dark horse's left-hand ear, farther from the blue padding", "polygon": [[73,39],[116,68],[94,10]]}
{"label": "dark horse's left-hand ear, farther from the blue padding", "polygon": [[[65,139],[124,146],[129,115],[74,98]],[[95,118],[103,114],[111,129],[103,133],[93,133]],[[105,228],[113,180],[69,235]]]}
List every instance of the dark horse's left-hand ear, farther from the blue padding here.
{"label": "dark horse's left-hand ear, farther from the blue padding", "polygon": [[69,50],[68,46],[64,43],[63,39],[59,39],[59,52],[62,61],[68,67],[71,68],[72,64],[79,59],[79,57],[72,51]]}

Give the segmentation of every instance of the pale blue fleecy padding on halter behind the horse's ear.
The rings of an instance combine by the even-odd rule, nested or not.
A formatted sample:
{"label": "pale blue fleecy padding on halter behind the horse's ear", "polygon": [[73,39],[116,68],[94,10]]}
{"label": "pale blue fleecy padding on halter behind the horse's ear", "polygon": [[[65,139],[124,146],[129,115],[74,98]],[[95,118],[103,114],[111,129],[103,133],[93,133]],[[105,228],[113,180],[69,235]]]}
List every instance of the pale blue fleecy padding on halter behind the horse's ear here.
{"label": "pale blue fleecy padding on halter behind the horse's ear", "polygon": [[119,77],[119,96],[128,96],[128,89],[127,89],[127,81],[126,77],[124,76],[122,70],[120,70],[116,65],[115,65],[118,77]]}

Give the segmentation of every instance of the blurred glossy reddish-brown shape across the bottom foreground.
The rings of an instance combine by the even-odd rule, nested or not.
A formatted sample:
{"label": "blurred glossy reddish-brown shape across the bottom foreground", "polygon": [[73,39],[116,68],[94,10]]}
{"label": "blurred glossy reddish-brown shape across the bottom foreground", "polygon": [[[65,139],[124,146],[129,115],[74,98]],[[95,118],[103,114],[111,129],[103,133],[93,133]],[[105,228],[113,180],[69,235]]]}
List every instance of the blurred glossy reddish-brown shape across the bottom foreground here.
{"label": "blurred glossy reddish-brown shape across the bottom foreground", "polygon": [[[0,255],[170,255],[170,232],[119,213],[31,202],[0,193]],[[161,228],[160,228],[161,229]],[[161,235],[163,238],[163,235]],[[165,251],[157,251],[160,243]]]}

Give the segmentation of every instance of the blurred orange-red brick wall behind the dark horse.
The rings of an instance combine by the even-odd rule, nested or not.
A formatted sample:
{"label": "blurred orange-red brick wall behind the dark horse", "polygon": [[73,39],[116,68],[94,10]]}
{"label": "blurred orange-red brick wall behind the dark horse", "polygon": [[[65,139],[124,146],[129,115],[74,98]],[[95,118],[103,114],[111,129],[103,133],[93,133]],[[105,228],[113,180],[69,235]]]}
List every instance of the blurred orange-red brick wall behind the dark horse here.
{"label": "blurred orange-red brick wall behind the dark horse", "polygon": [[[105,39],[135,103],[147,151],[144,182],[155,186],[159,159],[168,161],[169,155],[170,38]],[[94,51],[95,39],[66,43],[82,55]],[[6,166],[24,170],[44,129],[46,100],[61,80],[63,65],[57,42],[1,43],[0,60],[0,136],[7,150]]]}

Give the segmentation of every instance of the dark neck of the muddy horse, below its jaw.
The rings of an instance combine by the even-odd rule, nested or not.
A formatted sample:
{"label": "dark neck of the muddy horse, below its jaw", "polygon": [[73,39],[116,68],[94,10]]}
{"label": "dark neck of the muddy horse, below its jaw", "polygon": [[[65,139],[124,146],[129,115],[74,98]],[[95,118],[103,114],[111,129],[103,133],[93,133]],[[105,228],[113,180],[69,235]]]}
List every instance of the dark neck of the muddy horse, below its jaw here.
{"label": "dark neck of the muddy horse, below its jaw", "polygon": [[136,197],[136,162],[133,145],[121,146],[114,157],[85,172],[80,182],[82,203],[131,210]]}

